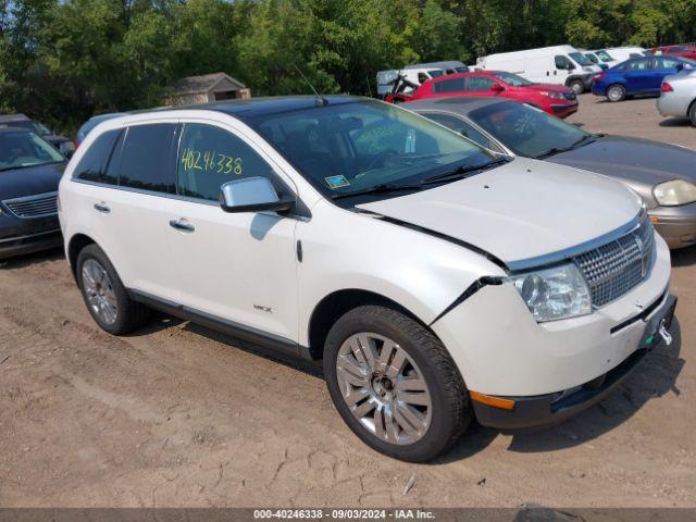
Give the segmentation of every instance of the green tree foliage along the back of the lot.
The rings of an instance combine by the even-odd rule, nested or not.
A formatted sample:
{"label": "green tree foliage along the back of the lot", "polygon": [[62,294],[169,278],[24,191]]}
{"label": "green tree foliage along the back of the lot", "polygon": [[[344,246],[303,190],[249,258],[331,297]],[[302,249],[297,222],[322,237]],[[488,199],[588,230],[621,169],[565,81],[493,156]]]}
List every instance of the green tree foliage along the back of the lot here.
{"label": "green tree foliage along the back of the lot", "polygon": [[570,42],[696,40],[696,0],[0,0],[0,110],[74,130],[225,72],[254,96],[370,95],[384,69]]}

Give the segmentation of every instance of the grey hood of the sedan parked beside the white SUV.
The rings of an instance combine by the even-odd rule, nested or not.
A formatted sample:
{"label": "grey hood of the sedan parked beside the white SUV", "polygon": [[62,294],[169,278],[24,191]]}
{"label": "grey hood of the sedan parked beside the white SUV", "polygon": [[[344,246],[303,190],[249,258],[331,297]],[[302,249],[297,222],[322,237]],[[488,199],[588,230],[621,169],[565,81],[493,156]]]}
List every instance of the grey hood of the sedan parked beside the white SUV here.
{"label": "grey hood of the sedan parked beside the white SUV", "polygon": [[696,151],[649,139],[602,136],[546,161],[637,182],[650,188],[675,177],[696,183]]}

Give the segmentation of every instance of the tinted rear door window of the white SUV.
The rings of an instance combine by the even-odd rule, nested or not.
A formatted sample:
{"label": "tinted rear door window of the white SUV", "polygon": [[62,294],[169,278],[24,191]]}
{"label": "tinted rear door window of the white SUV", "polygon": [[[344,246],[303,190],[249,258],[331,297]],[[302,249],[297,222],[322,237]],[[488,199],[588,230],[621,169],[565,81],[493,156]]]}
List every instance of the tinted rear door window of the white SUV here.
{"label": "tinted rear door window of the white SUV", "polygon": [[158,123],[128,127],[121,152],[119,185],[174,194],[176,175],[172,140],[176,125]]}

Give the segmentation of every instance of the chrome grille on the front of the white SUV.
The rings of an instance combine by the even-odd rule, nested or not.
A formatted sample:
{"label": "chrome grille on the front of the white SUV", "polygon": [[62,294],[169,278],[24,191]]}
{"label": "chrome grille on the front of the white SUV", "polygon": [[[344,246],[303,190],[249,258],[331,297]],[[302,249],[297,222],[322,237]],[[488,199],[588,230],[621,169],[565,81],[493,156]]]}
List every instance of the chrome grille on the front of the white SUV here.
{"label": "chrome grille on the front of the white SUV", "polygon": [[607,304],[637,286],[650,271],[654,252],[655,229],[645,219],[625,236],[575,257],[593,306]]}

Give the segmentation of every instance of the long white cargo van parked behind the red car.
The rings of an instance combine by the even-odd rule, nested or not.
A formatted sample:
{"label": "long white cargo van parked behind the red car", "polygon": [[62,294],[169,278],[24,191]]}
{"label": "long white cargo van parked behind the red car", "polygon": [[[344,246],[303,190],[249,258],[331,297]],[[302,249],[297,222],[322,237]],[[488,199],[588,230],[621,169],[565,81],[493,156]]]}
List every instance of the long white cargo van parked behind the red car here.
{"label": "long white cargo van parked behind the red car", "polygon": [[507,71],[539,84],[561,84],[576,95],[589,90],[601,69],[572,46],[544,47],[526,51],[500,52],[476,60],[484,71]]}

